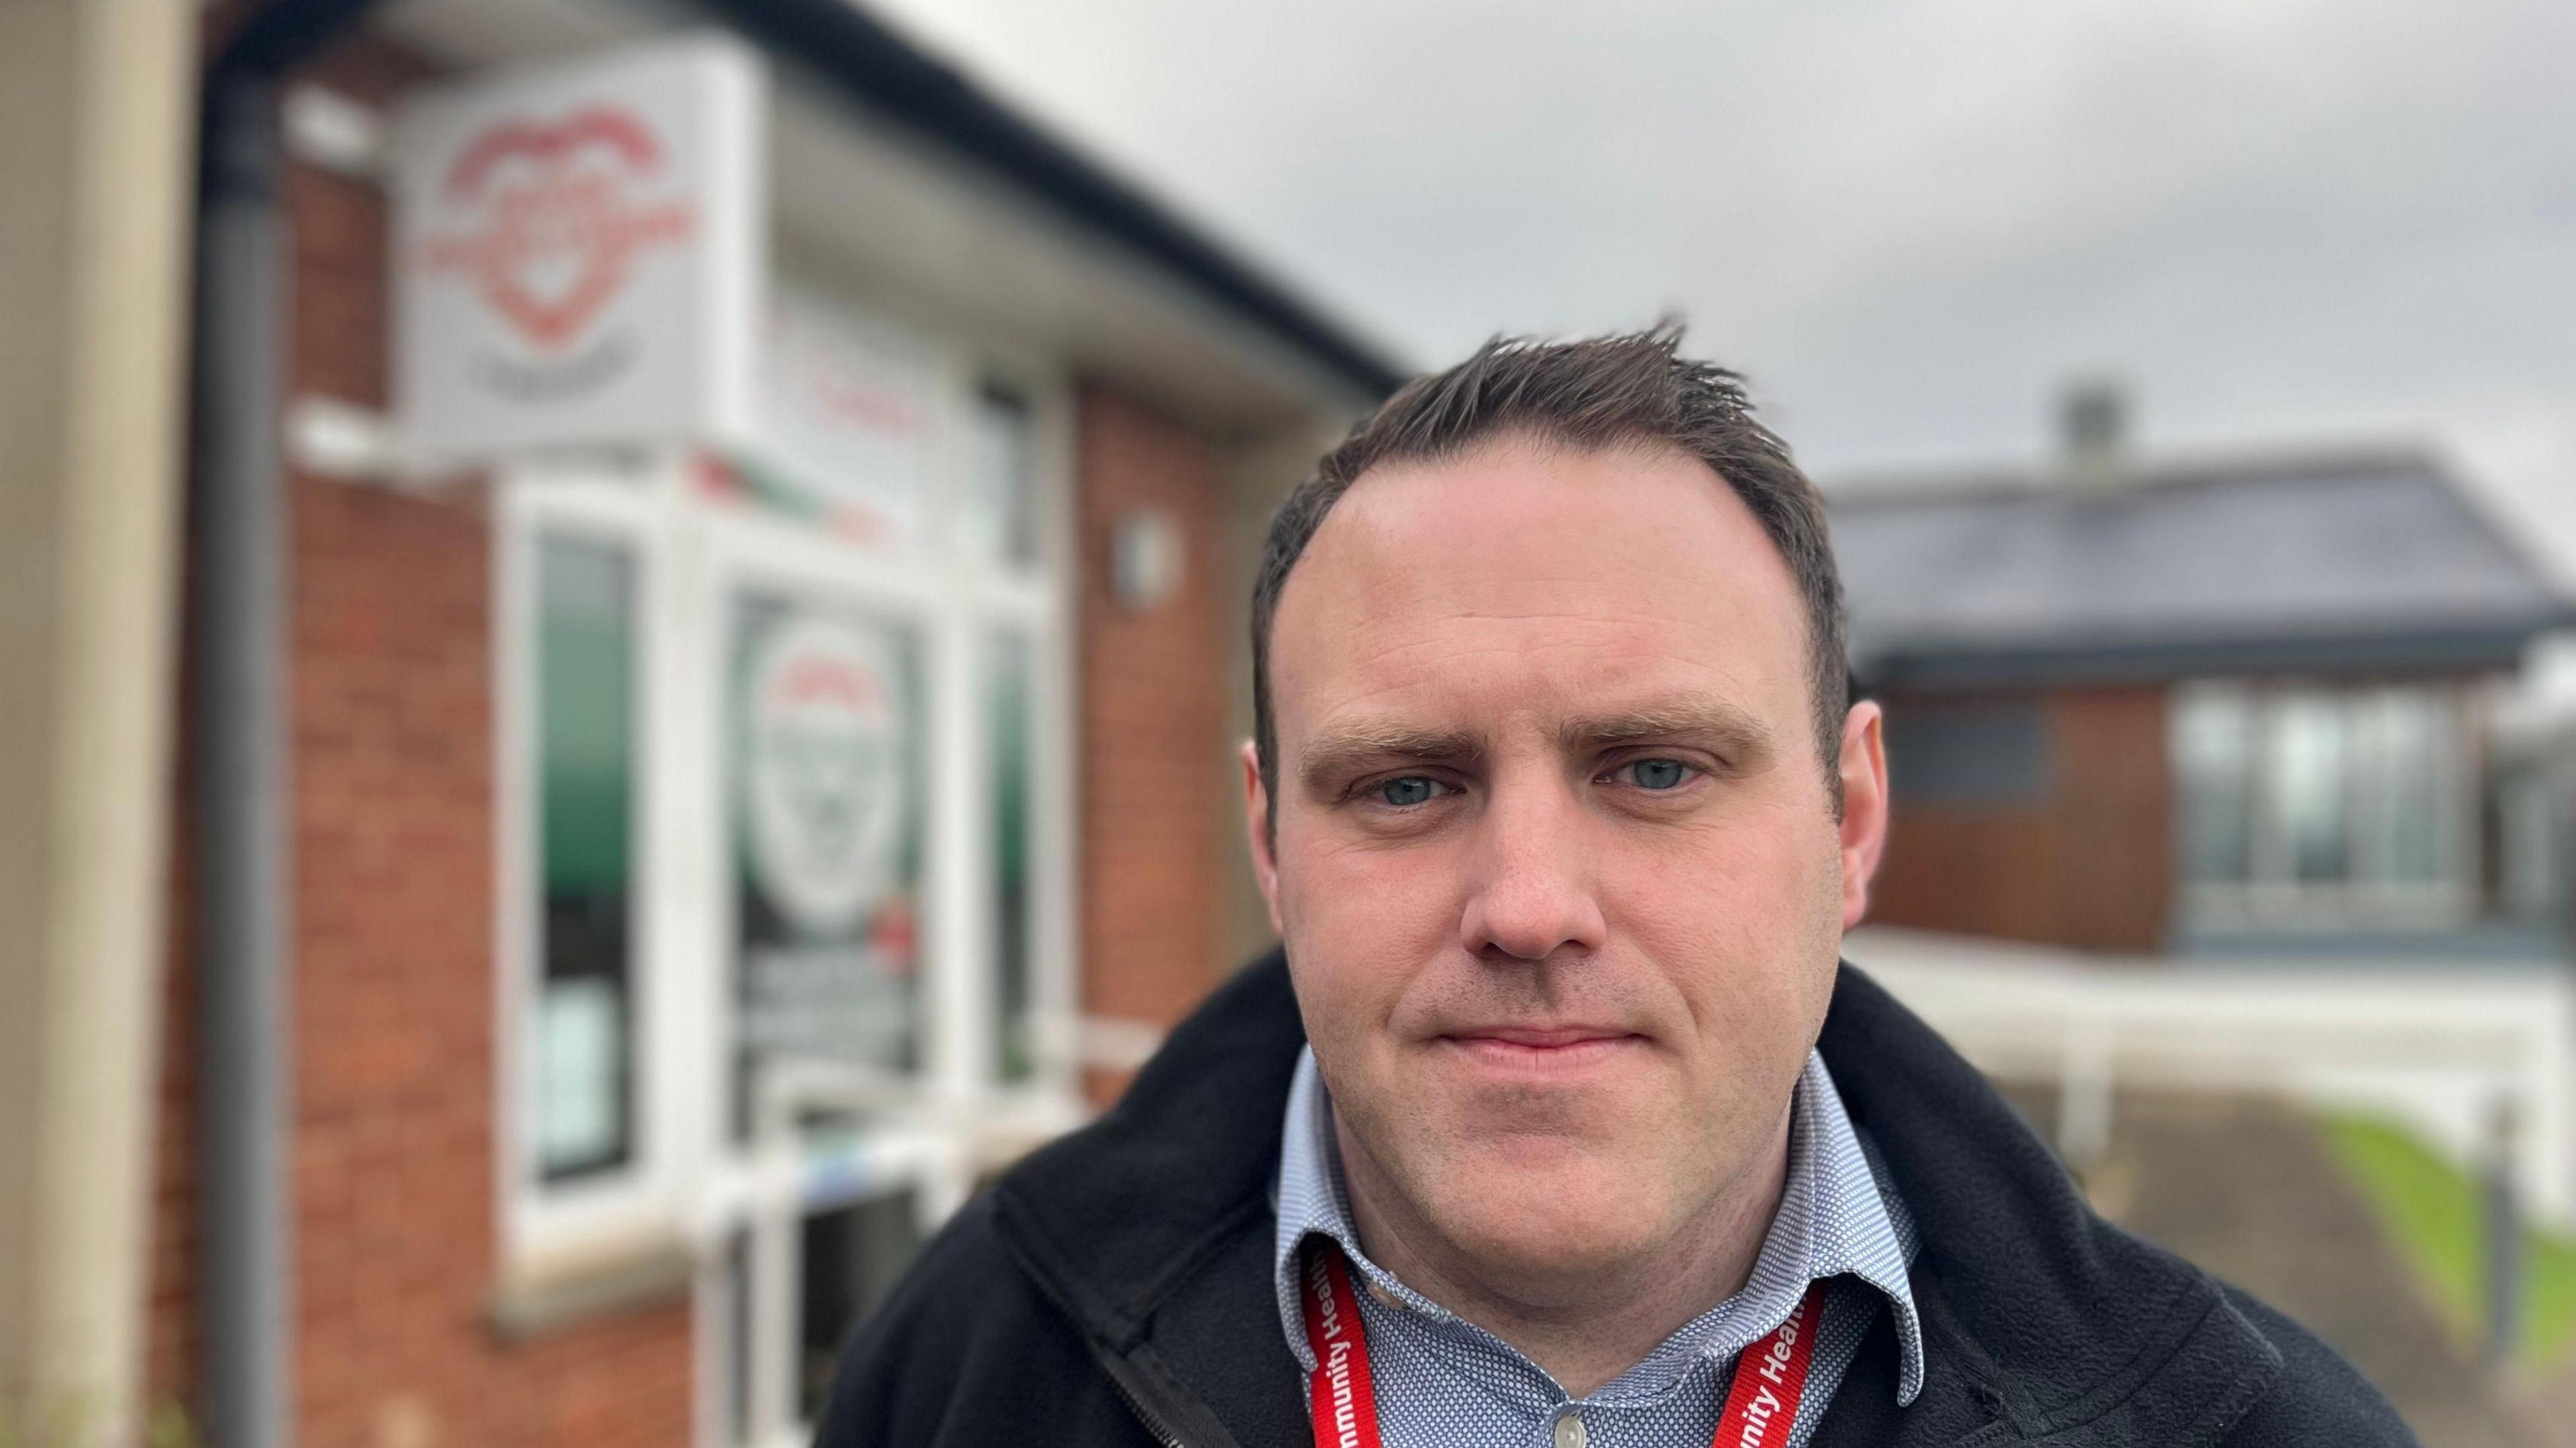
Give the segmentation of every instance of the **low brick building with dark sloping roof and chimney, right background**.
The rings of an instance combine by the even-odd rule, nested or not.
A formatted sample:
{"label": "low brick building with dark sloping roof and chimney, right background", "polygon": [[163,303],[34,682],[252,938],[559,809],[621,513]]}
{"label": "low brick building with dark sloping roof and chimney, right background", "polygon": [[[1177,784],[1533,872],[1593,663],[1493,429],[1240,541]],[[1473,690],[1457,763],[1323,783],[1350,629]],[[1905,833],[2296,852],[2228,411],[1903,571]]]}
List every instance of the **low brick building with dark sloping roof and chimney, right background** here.
{"label": "low brick building with dark sloping roof and chimney, right background", "polygon": [[2499,755],[2571,621],[2419,451],[1832,492],[1888,709],[1873,920],[2102,953],[2555,956],[2563,804]]}

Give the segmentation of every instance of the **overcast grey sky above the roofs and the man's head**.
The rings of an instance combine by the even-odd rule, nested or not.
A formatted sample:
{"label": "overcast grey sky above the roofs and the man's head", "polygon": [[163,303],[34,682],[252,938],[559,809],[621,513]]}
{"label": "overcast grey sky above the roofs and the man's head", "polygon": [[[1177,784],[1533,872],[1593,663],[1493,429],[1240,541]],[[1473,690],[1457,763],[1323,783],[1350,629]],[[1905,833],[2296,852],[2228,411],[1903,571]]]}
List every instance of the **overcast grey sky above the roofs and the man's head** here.
{"label": "overcast grey sky above the roofs and the man's head", "polygon": [[1680,309],[1826,482],[2432,441],[2576,577],[2568,0],[871,0],[1399,361]]}

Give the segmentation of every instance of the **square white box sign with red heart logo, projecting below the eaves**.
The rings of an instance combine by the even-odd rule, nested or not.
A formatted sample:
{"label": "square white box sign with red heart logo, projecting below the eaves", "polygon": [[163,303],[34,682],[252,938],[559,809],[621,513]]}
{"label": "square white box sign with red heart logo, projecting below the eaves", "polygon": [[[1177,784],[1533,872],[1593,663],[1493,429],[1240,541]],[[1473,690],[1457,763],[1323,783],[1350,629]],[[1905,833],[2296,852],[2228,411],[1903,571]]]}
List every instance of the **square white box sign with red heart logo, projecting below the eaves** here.
{"label": "square white box sign with red heart logo, projecting below the eaves", "polygon": [[690,36],[428,88],[397,121],[407,456],[724,441],[765,309],[762,64]]}

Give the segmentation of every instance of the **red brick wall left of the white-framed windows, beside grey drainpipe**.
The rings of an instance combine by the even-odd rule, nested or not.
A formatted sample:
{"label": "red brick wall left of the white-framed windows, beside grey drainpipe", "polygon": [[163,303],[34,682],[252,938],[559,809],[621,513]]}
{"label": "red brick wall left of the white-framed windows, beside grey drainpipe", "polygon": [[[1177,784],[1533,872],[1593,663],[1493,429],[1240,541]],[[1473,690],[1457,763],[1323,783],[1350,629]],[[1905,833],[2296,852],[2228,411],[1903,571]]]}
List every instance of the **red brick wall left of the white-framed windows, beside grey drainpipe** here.
{"label": "red brick wall left of the white-framed windows, beside grey drainpipe", "polygon": [[[368,100],[415,75],[361,46],[319,72]],[[384,196],[289,167],[283,206],[289,394],[381,405]],[[688,1443],[685,1304],[526,1345],[484,1324],[500,1275],[484,502],[317,477],[294,477],[289,500],[299,1443]],[[173,969],[152,1324],[152,1386],[180,1402],[196,1311],[188,974]]]}

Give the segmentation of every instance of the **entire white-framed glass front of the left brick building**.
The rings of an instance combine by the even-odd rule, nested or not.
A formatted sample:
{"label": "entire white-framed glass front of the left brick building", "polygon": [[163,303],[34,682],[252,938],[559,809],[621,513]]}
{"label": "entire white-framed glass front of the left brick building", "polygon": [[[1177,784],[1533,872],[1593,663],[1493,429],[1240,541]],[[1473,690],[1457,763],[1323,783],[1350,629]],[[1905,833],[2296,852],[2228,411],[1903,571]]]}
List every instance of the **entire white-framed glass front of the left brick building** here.
{"label": "entire white-framed glass front of the left brick building", "polygon": [[902,469],[500,490],[497,1206],[513,1262],[696,1255],[701,1448],[806,1443],[920,1242],[1082,1118],[1069,407],[930,350]]}

